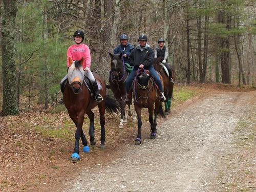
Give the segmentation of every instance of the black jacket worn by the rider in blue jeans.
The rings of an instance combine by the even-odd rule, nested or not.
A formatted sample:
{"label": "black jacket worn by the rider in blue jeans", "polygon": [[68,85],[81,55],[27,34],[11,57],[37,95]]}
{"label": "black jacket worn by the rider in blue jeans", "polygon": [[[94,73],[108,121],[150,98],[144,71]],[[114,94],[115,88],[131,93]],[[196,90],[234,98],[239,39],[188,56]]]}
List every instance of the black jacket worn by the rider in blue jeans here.
{"label": "black jacket worn by the rider in blue jeans", "polygon": [[146,44],[143,48],[137,46],[132,50],[129,57],[130,65],[134,66],[135,69],[138,69],[141,64],[147,68],[152,65],[154,55],[154,50],[149,45]]}

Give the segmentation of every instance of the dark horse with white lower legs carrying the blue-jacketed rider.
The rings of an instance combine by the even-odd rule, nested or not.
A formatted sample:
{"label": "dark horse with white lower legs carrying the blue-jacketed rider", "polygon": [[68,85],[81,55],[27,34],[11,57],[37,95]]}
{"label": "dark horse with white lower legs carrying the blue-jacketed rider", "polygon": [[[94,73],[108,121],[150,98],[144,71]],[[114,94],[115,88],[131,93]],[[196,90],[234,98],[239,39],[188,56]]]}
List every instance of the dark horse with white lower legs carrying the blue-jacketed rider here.
{"label": "dark horse with white lower legs carrying the blue-jacketed rider", "polygon": [[[123,124],[127,123],[127,117],[125,115],[125,98],[126,98],[126,79],[128,77],[128,73],[125,70],[124,60],[122,53],[120,54],[112,54],[109,52],[111,57],[111,76],[110,76],[110,89],[114,94],[115,99],[118,101],[120,105],[121,118],[119,123],[119,128],[123,128]],[[135,112],[131,112],[131,106],[128,105],[128,115],[133,116],[133,121],[136,121]]]}

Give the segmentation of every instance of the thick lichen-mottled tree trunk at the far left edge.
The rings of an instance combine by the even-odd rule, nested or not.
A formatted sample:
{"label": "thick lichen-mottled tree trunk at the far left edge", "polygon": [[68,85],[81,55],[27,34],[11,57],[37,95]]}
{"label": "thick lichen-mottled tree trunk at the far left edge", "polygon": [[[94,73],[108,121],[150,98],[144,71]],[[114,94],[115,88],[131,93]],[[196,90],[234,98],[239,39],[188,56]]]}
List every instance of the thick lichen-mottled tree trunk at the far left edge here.
{"label": "thick lichen-mottled tree trunk at the far left edge", "polygon": [[17,106],[15,37],[17,1],[4,0],[2,21],[3,111],[2,115],[16,115]]}

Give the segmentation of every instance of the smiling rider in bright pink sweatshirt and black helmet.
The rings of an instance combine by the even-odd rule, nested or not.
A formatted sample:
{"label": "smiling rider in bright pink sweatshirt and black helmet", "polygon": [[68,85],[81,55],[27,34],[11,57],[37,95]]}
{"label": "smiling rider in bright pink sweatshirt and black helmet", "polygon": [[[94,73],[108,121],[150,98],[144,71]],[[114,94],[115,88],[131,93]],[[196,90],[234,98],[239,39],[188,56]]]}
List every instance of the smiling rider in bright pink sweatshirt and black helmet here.
{"label": "smiling rider in bright pink sweatshirt and black helmet", "polygon": [[[84,71],[84,76],[88,77],[92,84],[93,84],[93,91],[95,93],[95,99],[97,102],[101,102],[103,100],[103,97],[99,94],[98,84],[96,79],[94,78],[90,66],[91,66],[91,54],[90,49],[86,44],[82,44],[82,41],[84,39],[84,33],[81,30],[75,31],[73,35],[75,44],[70,46],[67,51],[67,67],[69,66],[69,57],[74,60],[80,60],[82,57],[83,63],[82,68]],[[68,79],[68,75],[66,75],[61,81],[60,84],[63,83],[66,79]]]}

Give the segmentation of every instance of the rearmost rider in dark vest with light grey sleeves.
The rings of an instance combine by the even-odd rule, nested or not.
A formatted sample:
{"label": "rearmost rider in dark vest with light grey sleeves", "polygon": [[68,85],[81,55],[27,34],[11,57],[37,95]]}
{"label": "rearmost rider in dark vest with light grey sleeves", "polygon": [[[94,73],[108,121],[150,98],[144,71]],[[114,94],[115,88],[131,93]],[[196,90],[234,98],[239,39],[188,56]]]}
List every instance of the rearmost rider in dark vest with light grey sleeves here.
{"label": "rearmost rider in dark vest with light grey sleeves", "polygon": [[172,69],[170,69],[169,64],[167,63],[167,59],[168,59],[168,48],[165,47],[164,45],[164,38],[160,37],[158,39],[158,46],[155,49],[155,58],[159,58],[161,57],[162,60],[160,60],[160,62],[163,63],[163,65],[167,68],[168,73],[169,73],[169,81],[174,83],[173,80],[173,75],[172,75]]}

